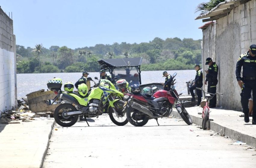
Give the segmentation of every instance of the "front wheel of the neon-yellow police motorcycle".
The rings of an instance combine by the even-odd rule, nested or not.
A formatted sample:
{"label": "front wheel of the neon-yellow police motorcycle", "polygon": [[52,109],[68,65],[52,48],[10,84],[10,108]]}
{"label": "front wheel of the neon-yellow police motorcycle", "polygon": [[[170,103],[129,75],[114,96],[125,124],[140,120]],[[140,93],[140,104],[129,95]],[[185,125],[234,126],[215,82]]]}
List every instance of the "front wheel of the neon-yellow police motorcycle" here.
{"label": "front wheel of the neon-yellow police motorcycle", "polygon": [[123,105],[124,105],[124,101],[118,100],[114,102],[114,106],[115,106],[114,109],[116,110],[118,116],[116,115],[112,107],[109,107],[108,109],[109,118],[115,125],[118,125],[118,126],[123,126],[128,123],[128,120],[125,116],[125,111],[123,111]]}

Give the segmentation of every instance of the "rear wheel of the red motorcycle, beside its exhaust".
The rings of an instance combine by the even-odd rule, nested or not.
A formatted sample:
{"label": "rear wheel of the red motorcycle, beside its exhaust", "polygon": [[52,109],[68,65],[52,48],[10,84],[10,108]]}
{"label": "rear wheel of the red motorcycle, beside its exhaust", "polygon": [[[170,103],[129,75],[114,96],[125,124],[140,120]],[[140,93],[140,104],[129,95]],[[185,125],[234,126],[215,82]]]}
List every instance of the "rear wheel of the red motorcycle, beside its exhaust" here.
{"label": "rear wheel of the red motorcycle, beside its exhaust", "polygon": [[[140,115],[140,118],[137,120],[137,119],[136,119],[136,113],[138,113],[138,112],[139,112],[139,110],[136,110],[136,109],[134,109],[133,107],[130,106],[130,107],[127,109],[127,111],[126,111],[126,117],[127,117],[128,121],[129,121],[132,125],[134,125],[134,126],[136,126],[136,127],[141,127],[141,126],[147,124],[147,122],[148,122],[148,117],[147,117],[146,114]],[[135,120],[134,120],[133,118],[135,118]],[[142,121],[140,121],[140,120],[142,120]]]}

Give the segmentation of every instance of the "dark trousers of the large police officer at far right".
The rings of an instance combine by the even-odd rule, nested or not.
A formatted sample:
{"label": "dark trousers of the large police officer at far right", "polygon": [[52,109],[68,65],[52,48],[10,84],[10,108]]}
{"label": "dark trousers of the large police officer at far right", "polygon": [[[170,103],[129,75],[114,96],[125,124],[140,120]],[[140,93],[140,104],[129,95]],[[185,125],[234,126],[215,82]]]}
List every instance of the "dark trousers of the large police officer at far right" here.
{"label": "dark trousers of the large police officer at far right", "polygon": [[[241,104],[243,108],[243,113],[249,115],[249,108],[248,108],[248,102],[251,98],[251,91],[252,91],[252,98],[253,98],[253,114],[252,119],[256,121],[256,79],[254,80],[244,80],[243,81],[244,87],[242,88],[241,92]],[[255,98],[254,98],[255,96]]]}

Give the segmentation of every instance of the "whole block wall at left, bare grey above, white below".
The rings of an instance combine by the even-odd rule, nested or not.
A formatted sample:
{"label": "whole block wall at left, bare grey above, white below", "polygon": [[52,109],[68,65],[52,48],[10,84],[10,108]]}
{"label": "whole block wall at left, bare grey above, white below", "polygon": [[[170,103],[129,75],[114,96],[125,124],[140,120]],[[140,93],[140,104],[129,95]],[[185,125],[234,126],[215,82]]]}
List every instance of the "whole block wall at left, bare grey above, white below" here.
{"label": "whole block wall at left, bare grey above, white below", "polygon": [[[16,105],[16,44],[13,20],[0,8],[0,111]],[[16,96],[15,96],[16,95]],[[1,115],[1,113],[0,113]]]}

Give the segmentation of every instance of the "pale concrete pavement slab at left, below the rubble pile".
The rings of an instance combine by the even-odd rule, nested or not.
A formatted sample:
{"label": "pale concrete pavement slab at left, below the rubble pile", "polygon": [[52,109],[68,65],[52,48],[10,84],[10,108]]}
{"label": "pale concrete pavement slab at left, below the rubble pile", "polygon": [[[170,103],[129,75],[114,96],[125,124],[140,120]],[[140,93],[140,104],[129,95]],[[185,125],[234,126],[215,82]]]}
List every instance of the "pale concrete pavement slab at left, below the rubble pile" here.
{"label": "pale concrete pavement slab at left, below the rubble pile", "polygon": [[54,119],[0,124],[0,167],[39,168],[47,152]]}

